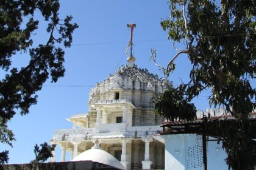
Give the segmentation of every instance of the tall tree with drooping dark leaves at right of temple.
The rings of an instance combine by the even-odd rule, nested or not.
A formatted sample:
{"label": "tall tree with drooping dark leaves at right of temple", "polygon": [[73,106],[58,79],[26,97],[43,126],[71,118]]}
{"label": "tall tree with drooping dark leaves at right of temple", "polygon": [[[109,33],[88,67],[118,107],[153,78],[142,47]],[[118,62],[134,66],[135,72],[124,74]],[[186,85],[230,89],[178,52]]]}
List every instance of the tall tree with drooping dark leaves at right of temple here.
{"label": "tall tree with drooping dark leaves at right of temple", "polygon": [[[223,106],[233,116],[229,123],[207,121],[209,128],[223,140],[229,169],[254,169],[256,166],[256,126],[249,122],[250,113],[256,107],[256,90],[251,85],[256,70],[256,3],[252,0],[170,0],[169,19],[161,22],[168,31],[173,47],[184,42],[184,49],[178,50],[162,67],[166,76],[175,68],[177,57],[187,55],[193,68],[190,81],[182,83],[171,94],[182,94],[186,104],[205,89],[212,89],[208,97],[210,105]],[[155,50],[152,58],[155,61]],[[174,92],[172,92],[174,90]],[[175,92],[176,91],[176,92]],[[191,114],[163,112],[169,104],[162,104],[171,95],[163,94],[157,99],[156,112],[169,120],[177,118],[190,121]],[[182,100],[182,99],[180,99]],[[179,102],[176,102],[179,103]],[[196,112],[194,112],[194,115]]]}

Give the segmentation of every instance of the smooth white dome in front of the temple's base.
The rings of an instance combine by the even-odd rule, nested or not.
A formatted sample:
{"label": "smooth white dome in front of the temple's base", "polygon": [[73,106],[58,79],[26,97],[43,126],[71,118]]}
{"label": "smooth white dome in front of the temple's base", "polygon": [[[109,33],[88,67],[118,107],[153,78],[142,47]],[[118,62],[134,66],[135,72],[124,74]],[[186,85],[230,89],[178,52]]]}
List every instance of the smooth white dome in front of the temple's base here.
{"label": "smooth white dome in front of the temple's base", "polygon": [[72,161],[85,160],[96,161],[105,165],[113,166],[115,168],[125,169],[124,166],[115,157],[108,154],[108,152],[103,151],[102,149],[89,149],[77,155],[77,157],[75,157]]}

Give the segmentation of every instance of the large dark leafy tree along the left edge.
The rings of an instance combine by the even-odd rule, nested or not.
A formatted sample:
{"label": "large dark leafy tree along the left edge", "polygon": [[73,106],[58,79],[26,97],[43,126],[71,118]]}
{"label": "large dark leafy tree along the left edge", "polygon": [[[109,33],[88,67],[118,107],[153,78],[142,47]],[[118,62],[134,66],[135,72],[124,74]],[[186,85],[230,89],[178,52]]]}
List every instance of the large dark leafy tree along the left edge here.
{"label": "large dark leafy tree along the left edge", "polygon": [[[15,138],[7,123],[17,113],[29,113],[29,107],[37,103],[36,92],[43,83],[48,78],[56,82],[64,76],[65,52],[55,44],[71,47],[72,33],[78,25],[71,23],[72,16],[62,21],[59,8],[59,0],[0,0],[0,67],[5,74],[0,80],[1,143],[12,146]],[[38,47],[33,46],[32,39],[39,24],[34,19],[35,13],[40,13],[48,23],[46,31],[49,33],[48,41]],[[12,66],[12,58],[18,53],[30,56],[27,66]],[[1,154],[7,155],[7,152]]]}

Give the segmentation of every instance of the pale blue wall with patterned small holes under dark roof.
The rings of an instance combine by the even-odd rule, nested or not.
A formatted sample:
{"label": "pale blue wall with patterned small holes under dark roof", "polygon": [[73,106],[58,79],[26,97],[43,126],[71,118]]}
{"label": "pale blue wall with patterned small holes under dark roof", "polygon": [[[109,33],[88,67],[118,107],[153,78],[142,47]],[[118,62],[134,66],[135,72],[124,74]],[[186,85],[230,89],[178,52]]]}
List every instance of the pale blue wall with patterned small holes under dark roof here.
{"label": "pale blue wall with patterned small holes under dark roof", "polygon": [[[165,169],[203,169],[201,135],[162,135],[165,139]],[[210,138],[211,139],[211,138]],[[226,152],[217,141],[207,142],[208,170],[227,169]]]}

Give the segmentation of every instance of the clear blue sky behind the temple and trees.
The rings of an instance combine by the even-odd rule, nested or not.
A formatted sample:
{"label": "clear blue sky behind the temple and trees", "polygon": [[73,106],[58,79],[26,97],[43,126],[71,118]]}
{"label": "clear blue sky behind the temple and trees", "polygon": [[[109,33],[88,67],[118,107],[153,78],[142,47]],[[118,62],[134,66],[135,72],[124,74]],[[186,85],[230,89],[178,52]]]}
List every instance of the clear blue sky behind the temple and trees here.
{"label": "clear blue sky behind the temple and trees", "polygon": [[[162,73],[152,61],[149,61],[151,49],[157,50],[158,63],[165,64],[176,54],[167,33],[162,30],[160,21],[169,16],[166,0],[158,1],[60,1],[60,16],[72,15],[79,29],[74,32],[73,46],[65,49],[65,77],[51,84],[46,82],[38,92],[38,103],[30,108],[30,114],[21,117],[15,115],[9,127],[15,134],[13,148],[0,146],[0,151],[10,150],[9,163],[29,163],[35,158],[34,146],[49,141],[55,129],[69,129],[72,124],[66,118],[73,114],[87,113],[88,93],[97,82],[103,81],[118,67],[126,64],[124,55],[130,30],[126,24],[135,23],[134,56],[138,67],[147,68],[151,73]],[[39,18],[41,20],[41,18]],[[48,35],[45,24],[34,35],[35,44],[44,44]],[[101,44],[102,43],[102,44]],[[178,47],[182,48],[182,44]],[[15,66],[24,66],[27,56],[16,55]],[[190,61],[185,55],[176,60],[176,70],[169,77],[174,86],[188,80]],[[55,85],[57,87],[49,87]],[[60,87],[60,86],[84,87]],[[87,87],[85,87],[87,86]],[[194,100],[198,109],[208,107],[208,92]],[[60,149],[57,148],[57,161],[60,161]],[[67,154],[67,160],[69,160]]]}

